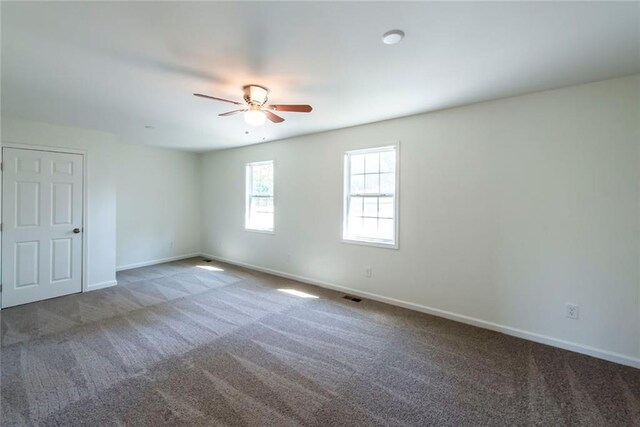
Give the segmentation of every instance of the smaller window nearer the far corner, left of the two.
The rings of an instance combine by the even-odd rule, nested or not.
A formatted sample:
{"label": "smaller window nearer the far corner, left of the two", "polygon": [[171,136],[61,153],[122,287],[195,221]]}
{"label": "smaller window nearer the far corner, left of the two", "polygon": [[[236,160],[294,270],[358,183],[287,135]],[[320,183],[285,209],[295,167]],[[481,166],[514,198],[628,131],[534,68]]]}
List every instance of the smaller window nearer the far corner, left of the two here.
{"label": "smaller window nearer the far corner, left of the two", "polygon": [[247,163],[245,228],[273,231],[273,161]]}

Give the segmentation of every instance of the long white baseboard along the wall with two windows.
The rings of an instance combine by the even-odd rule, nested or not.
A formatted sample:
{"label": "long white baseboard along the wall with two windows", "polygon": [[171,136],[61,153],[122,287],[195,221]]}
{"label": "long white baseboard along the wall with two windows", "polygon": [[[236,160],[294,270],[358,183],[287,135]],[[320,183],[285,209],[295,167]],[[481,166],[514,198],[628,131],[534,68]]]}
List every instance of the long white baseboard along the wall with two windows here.
{"label": "long white baseboard along the wall with two windows", "polygon": [[427,307],[412,302],[402,301],[395,298],[385,297],[382,295],[360,291],[357,289],[348,288],[346,286],[336,285],[333,283],[323,282],[321,280],[311,279],[309,277],[298,276],[295,274],[286,273],[283,271],[273,270],[270,268],[260,267],[257,265],[247,264],[244,262],[233,261],[230,259],[218,257],[211,254],[200,254],[203,257],[211,258],[216,261],[226,262],[228,264],[237,265],[240,267],[249,268],[263,273],[273,274],[274,276],[284,277],[287,279],[297,280],[299,282],[308,283],[310,285],[320,286],[322,288],[333,289],[335,291],[341,291],[348,294],[368,298],[374,301],[384,302],[387,304],[395,305],[398,307],[408,308],[410,310],[419,311],[422,313],[431,314],[438,317],[444,317],[446,319],[455,320],[456,322],[466,323],[468,325],[477,326],[484,329],[489,329],[503,334],[511,335],[518,338],[523,338],[529,341],[534,341],[541,344],[550,345],[553,347],[562,348],[564,350],[574,351],[576,353],[586,354],[598,359],[608,360],[610,362],[619,363],[621,365],[631,366],[640,369],[640,358],[627,356],[624,354],[614,353],[611,351],[591,347],[584,344],[578,344],[571,341],[565,341],[559,338],[550,337],[548,335],[542,335],[535,332],[528,332],[522,329],[513,328],[511,326],[500,325],[486,320],[477,319],[475,317],[465,316],[463,314],[452,313],[446,310],[440,310],[438,308]]}

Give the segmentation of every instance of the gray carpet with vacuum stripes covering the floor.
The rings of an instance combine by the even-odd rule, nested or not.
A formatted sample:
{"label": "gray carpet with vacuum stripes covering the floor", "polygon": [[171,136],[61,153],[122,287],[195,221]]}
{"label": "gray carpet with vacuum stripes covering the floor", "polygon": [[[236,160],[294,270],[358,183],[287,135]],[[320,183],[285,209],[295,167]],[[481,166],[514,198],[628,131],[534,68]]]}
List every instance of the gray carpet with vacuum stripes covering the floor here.
{"label": "gray carpet with vacuum stripes covering the floor", "polygon": [[118,281],[2,311],[3,426],[640,425],[637,369],[200,259]]}

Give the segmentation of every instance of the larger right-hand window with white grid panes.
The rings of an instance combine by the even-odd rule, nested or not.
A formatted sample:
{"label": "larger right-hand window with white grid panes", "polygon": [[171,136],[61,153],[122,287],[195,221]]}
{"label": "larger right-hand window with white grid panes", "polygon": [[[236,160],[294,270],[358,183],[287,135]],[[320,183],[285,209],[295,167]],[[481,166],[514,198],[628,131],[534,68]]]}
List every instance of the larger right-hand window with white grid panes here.
{"label": "larger right-hand window with white grid panes", "polygon": [[397,151],[392,145],[345,154],[345,241],[397,247]]}

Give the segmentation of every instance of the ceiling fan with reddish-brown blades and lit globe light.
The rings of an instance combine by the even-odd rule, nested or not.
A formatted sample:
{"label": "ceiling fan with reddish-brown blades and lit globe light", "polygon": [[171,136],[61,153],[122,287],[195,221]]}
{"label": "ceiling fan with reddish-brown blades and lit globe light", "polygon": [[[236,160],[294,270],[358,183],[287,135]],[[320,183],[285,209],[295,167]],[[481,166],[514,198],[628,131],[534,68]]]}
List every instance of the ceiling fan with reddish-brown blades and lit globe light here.
{"label": "ceiling fan with reddish-brown blades and lit globe light", "polygon": [[[265,118],[271,120],[273,123],[282,123],[284,119],[273,111],[287,111],[293,113],[309,113],[312,108],[310,105],[283,105],[283,104],[267,104],[267,95],[269,95],[269,89],[258,85],[247,85],[243,88],[244,101],[236,102],[224,98],[218,98],[215,96],[203,95],[201,93],[194,93],[195,96],[201,98],[213,99],[215,101],[228,102],[230,104],[242,105],[244,108],[239,110],[228,111],[226,113],[218,114],[219,116],[231,116],[238,113],[244,113],[245,121],[253,126],[260,126],[264,124]],[[246,105],[245,105],[246,104]]]}

